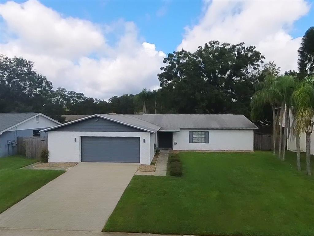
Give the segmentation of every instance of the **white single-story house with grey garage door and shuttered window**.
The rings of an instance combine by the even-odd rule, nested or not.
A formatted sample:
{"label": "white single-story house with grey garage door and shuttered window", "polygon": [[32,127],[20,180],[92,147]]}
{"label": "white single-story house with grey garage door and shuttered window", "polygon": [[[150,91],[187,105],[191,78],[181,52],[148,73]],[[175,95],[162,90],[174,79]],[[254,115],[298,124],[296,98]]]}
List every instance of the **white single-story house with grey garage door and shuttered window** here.
{"label": "white single-story house with grey garage door and shuttered window", "polygon": [[49,162],[150,164],[156,148],[252,151],[254,129],[244,115],[96,114],[41,132]]}

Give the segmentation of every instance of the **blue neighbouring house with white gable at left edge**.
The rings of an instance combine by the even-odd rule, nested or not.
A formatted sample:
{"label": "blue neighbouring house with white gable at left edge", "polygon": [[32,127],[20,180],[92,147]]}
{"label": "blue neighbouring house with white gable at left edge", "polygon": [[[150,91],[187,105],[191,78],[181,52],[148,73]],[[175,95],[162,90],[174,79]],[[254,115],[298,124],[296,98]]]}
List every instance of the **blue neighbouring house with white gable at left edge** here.
{"label": "blue neighbouring house with white gable at left edge", "polygon": [[17,137],[43,137],[60,122],[41,113],[0,113],[0,157],[17,154]]}

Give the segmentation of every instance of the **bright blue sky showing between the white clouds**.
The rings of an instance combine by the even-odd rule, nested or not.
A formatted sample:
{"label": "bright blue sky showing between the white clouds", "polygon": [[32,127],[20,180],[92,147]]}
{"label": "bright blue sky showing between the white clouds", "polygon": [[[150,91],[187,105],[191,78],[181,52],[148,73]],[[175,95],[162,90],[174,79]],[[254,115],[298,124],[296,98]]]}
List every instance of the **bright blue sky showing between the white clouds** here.
{"label": "bright blue sky showing between the white clouds", "polygon": [[[165,53],[176,50],[182,40],[184,27],[198,23],[203,6],[203,1],[200,0],[42,0],[41,3],[64,16],[78,17],[98,24],[107,24],[119,19],[134,21],[143,39],[154,42],[156,49]],[[312,25],[313,6],[306,16],[295,22],[290,35],[301,37]]]}

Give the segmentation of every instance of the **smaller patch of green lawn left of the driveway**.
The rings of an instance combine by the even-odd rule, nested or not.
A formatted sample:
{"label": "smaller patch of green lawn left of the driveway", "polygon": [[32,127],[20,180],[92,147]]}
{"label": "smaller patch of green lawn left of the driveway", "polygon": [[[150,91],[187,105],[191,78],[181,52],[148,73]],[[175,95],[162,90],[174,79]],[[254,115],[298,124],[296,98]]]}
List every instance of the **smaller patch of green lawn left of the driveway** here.
{"label": "smaller patch of green lawn left of the driveway", "polygon": [[0,158],[0,213],[64,173],[53,170],[19,170],[37,161],[21,156]]}

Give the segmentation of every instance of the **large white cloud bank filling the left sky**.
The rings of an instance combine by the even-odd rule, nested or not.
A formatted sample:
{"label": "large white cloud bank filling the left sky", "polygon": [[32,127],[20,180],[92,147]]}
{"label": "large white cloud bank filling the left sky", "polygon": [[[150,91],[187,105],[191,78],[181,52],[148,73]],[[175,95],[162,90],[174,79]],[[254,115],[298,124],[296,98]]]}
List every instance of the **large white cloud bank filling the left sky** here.
{"label": "large white cloud bank filling the left sky", "polygon": [[[133,22],[96,25],[31,0],[0,4],[0,15],[8,38],[0,53],[34,61],[54,87],[108,99],[159,84],[165,53],[139,39]],[[109,34],[117,37],[114,45],[107,43]]]}

